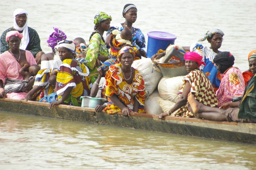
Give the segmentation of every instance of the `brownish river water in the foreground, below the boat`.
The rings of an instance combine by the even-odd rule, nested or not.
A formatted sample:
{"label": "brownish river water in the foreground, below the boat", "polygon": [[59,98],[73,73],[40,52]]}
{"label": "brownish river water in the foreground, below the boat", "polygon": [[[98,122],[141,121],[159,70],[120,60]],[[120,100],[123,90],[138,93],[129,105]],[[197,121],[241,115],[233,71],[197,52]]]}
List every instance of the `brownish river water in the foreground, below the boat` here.
{"label": "brownish river water in the foreground, below the boat", "polygon": [[0,112],[0,169],[255,169],[250,144]]}

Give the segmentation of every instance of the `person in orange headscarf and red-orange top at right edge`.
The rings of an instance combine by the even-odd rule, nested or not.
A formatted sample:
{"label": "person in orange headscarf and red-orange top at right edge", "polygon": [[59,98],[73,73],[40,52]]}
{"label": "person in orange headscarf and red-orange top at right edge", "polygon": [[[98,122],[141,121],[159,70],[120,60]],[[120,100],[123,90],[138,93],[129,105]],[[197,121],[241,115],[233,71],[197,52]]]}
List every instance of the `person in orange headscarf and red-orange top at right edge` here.
{"label": "person in orange headscarf and red-orange top at right edge", "polygon": [[245,86],[249,82],[250,78],[256,73],[256,50],[252,50],[248,55],[249,70],[243,72],[243,78],[245,79]]}

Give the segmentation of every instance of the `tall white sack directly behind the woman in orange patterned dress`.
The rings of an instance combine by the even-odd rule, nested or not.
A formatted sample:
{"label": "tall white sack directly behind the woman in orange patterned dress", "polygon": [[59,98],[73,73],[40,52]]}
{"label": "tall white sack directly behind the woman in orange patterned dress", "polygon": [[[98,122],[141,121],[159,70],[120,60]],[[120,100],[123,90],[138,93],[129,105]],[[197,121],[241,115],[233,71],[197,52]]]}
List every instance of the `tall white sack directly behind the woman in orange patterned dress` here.
{"label": "tall white sack directly behind the woman in orange patterned dress", "polygon": [[141,57],[141,60],[136,60],[132,63],[132,67],[139,70],[143,76],[146,93],[148,95],[152,94],[163,74],[153,69],[150,58]]}

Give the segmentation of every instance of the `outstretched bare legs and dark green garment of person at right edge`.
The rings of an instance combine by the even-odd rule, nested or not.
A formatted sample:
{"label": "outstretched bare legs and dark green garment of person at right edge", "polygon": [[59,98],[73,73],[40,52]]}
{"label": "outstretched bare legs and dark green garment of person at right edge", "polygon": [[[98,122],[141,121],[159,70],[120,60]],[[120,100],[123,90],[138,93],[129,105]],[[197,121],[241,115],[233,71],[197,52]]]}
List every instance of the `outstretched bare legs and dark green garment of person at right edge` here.
{"label": "outstretched bare legs and dark green garment of person at right edge", "polygon": [[188,108],[195,117],[210,121],[256,123],[255,76],[256,74],[248,82],[241,102],[229,102],[221,105],[220,108],[213,108],[199,103],[192,93],[189,93]]}

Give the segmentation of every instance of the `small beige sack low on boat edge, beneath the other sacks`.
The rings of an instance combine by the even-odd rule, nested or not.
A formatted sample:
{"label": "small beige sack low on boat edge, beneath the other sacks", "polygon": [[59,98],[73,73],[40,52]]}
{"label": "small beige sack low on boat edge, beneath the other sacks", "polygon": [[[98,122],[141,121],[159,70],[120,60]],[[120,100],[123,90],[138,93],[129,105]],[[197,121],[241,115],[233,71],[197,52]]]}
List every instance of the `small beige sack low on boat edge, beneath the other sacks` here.
{"label": "small beige sack low on boat edge, beneath the other sacks", "polygon": [[149,95],[145,100],[144,110],[148,114],[161,114],[163,110],[161,109],[160,105],[158,104],[158,100],[161,99],[158,90],[154,90],[154,92]]}

